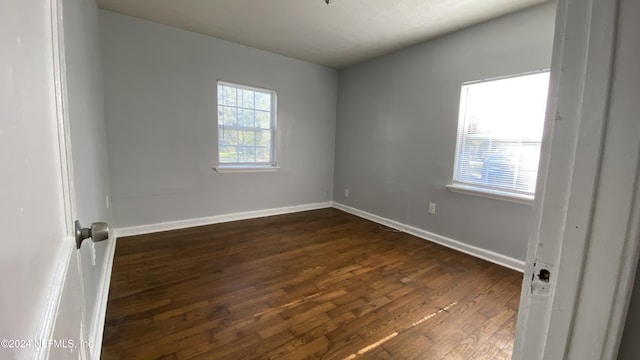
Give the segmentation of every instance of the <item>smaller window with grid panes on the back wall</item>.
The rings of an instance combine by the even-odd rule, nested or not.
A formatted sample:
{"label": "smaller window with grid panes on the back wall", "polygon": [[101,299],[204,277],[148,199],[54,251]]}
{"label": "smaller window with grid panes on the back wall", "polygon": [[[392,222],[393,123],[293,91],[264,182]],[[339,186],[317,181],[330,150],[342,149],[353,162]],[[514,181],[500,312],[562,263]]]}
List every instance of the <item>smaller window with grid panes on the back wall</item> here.
{"label": "smaller window with grid panes on the back wall", "polygon": [[275,169],[276,93],[218,81],[217,171]]}

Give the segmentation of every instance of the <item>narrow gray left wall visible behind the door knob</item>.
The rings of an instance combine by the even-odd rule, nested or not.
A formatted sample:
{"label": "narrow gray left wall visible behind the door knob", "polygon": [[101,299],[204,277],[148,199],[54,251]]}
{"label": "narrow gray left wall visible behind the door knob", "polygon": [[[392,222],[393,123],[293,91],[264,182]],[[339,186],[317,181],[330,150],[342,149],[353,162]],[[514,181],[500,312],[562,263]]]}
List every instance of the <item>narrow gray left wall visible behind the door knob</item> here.
{"label": "narrow gray left wall visible behind the door knob", "polygon": [[[71,152],[78,219],[83,226],[112,222],[107,208],[109,162],[102,93],[98,7],[95,0],[64,0],[65,61]],[[82,244],[81,263],[88,323],[92,324],[107,241]],[[95,251],[95,262],[93,252]],[[93,331],[95,329],[88,329]]]}

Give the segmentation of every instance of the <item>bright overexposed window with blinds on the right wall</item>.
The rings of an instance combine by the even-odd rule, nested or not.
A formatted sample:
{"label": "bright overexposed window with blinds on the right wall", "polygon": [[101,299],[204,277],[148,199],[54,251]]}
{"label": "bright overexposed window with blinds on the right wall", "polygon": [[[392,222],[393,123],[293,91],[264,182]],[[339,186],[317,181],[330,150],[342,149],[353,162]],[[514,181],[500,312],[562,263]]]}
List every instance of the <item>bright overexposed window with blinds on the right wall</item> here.
{"label": "bright overexposed window with blinds on the right wall", "polygon": [[531,202],[549,72],[464,83],[452,191]]}

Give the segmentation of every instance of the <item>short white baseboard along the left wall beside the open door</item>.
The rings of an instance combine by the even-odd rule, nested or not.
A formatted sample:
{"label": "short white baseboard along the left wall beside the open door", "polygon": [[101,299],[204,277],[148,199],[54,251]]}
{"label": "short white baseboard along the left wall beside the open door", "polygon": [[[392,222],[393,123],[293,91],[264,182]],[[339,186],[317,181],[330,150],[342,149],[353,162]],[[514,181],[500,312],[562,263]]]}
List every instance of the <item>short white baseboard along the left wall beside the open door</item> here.
{"label": "short white baseboard along the left wall beside the open door", "polygon": [[91,319],[91,334],[89,341],[92,343],[91,360],[100,359],[102,352],[102,336],[104,335],[104,322],[107,316],[107,301],[109,299],[109,286],[111,285],[111,270],[113,268],[113,257],[116,251],[116,241],[118,238],[113,235],[107,245],[104,266],[100,275],[100,285],[98,286],[98,296],[96,297],[96,308],[93,310]]}

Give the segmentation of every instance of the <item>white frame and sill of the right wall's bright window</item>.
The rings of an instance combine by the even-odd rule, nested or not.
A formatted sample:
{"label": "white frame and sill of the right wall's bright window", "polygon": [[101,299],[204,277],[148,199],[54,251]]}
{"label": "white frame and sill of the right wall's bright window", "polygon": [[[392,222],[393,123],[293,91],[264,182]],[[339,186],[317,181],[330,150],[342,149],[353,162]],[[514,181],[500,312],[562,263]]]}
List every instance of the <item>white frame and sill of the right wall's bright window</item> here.
{"label": "white frame and sill of the right wall's bright window", "polygon": [[[465,113],[464,113],[466,110],[465,90],[469,85],[486,83],[490,81],[512,79],[516,77],[535,75],[535,74],[541,74],[541,73],[549,73],[549,69],[542,69],[542,70],[536,70],[536,71],[527,72],[527,73],[501,76],[497,78],[469,81],[462,84],[461,95],[460,95],[460,107],[459,107],[459,113],[458,113],[458,131],[456,133],[456,153],[455,153],[455,159],[454,159],[453,177],[452,177],[451,183],[447,185],[447,188],[450,191],[455,193],[460,193],[460,194],[474,195],[474,196],[480,196],[480,197],[496,199],[496,200],[503,200],[503,201],[513,202],[518,204],[533,205],[533,200],[534,200],[533,193],[526,193],[526,192],[511,190],[511,189],[503,189],[500,187],[493,187],[490,185],[483,186],[482,184],[476,184],[473,182],[465,182],[460,180],[460,173],[459,173],[460,163],[459,162],[461,161],[462,150],[463,150],[462,148],[464,147],[463,144],[465,142],[465,139],[464,138],[461,139],[460,136],[465,134],[464,132],[464,127],[466,125],[466,122],[465,122],[466,119],[465,119]],[[540,119],[540,123],[541,124],[544,123],[544,117]],[[540,139],[540,142],[541,141],[542,139]]]}

